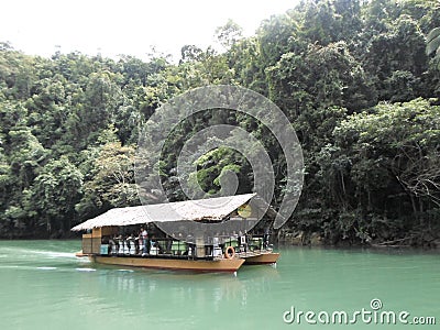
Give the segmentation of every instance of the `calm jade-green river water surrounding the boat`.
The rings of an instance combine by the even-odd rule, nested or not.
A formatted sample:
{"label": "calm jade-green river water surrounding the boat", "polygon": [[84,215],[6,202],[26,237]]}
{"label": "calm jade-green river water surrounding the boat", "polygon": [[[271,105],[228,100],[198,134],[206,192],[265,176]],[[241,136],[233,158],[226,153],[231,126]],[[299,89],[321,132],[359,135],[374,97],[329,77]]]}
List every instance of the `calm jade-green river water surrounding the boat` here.
{"label": "calm jade-green river water surrounding the boat", "polygon": [[[0,329],[438,329],[440,323],[435,252],[284,248],[276,268],[242,267],[235,277],[100,266],[76,258],[78,250],[79,241],[0,241]],[[348,324],[340,324],[343,315],[334,311],[346,312]],[[396,324],[381,315],[385,311],[396,316]],[[433,318],[437,324],[414,324]]]}

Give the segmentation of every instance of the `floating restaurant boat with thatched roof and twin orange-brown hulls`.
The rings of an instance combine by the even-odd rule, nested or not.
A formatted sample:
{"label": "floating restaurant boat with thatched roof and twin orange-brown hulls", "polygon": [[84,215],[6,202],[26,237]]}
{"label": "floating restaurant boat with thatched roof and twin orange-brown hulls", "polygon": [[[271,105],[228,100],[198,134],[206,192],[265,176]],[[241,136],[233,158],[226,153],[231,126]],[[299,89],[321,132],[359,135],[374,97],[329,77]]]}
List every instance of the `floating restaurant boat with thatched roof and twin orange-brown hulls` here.
{"label": "floating restaurant boat with thatched roof and twin orange-brown hulls", "polygon": [[108,265],[237,272],[243,264],[275,264],[268,243],[276,211],[255,194],[114,208],[73,231],[77,256]]}

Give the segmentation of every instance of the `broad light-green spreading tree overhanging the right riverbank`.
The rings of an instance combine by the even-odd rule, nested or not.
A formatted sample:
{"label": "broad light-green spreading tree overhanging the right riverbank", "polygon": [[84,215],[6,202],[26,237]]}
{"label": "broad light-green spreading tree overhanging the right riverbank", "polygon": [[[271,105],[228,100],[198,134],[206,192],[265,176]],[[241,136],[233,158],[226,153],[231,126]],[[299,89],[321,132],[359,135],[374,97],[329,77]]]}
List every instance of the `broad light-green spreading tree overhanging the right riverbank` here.
{"label": "broad light-green spreading tree overhanging the right riverbank", "polygon": [[341,154],[350,160],[345,194],[356,198],[345,208],[388,219],[409,217],[420,227],[436,224],[438,219],[425,210],[440,206],[439,118],[438,106],[415,99],[380,103],[372,113],[341,122],[334,130],[338,153],[326,163]]}

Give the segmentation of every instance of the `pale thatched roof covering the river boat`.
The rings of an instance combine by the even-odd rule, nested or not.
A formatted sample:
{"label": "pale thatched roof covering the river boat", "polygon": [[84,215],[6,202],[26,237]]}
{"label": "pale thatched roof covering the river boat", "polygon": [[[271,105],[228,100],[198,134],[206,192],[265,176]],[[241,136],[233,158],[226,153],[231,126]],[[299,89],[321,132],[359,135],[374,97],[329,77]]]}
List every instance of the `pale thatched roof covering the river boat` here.
{"label": "pale thatched roof covering the river boat", "polygon": [[105,226],[130,226],[146,222],[170,222],[182,220],[222,220],[256,194],[218,198],[185,200],[138,207],[116,208],[87,220],[73,231],[89,230]]}

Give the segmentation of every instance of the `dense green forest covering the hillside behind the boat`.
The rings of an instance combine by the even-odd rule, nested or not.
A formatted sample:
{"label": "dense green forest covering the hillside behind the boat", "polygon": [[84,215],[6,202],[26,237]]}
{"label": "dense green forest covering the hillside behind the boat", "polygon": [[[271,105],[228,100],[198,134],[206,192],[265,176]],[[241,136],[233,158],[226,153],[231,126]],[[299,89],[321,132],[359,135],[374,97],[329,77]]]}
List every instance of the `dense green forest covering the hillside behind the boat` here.
{"label": "dense green forest covering the hillside behind the boat", "polygon": [[[44,58],[2,42],[0,237],[64,237],[110,208],[139,205],[142,124],[174,96],[228,84],[270,98],[300,140],[305,185],[286,229],[328,244],[440,245],[438,26],[436,0],[310,0],[267,18],[251,37],[229,21],[213,32],[223,52],[183,45],[178,63],[161,53]],[[176,139],[212,121],[242,127],[271,151],[276,207],[285,160],[261,123],[210,111]],[[168,144],[162,157],[170,200],[185,197],[179,147]],[[240,177],[239,190],[252,187],[249,164],[228,148],[197,166],[207,195],[224,168]]]}

